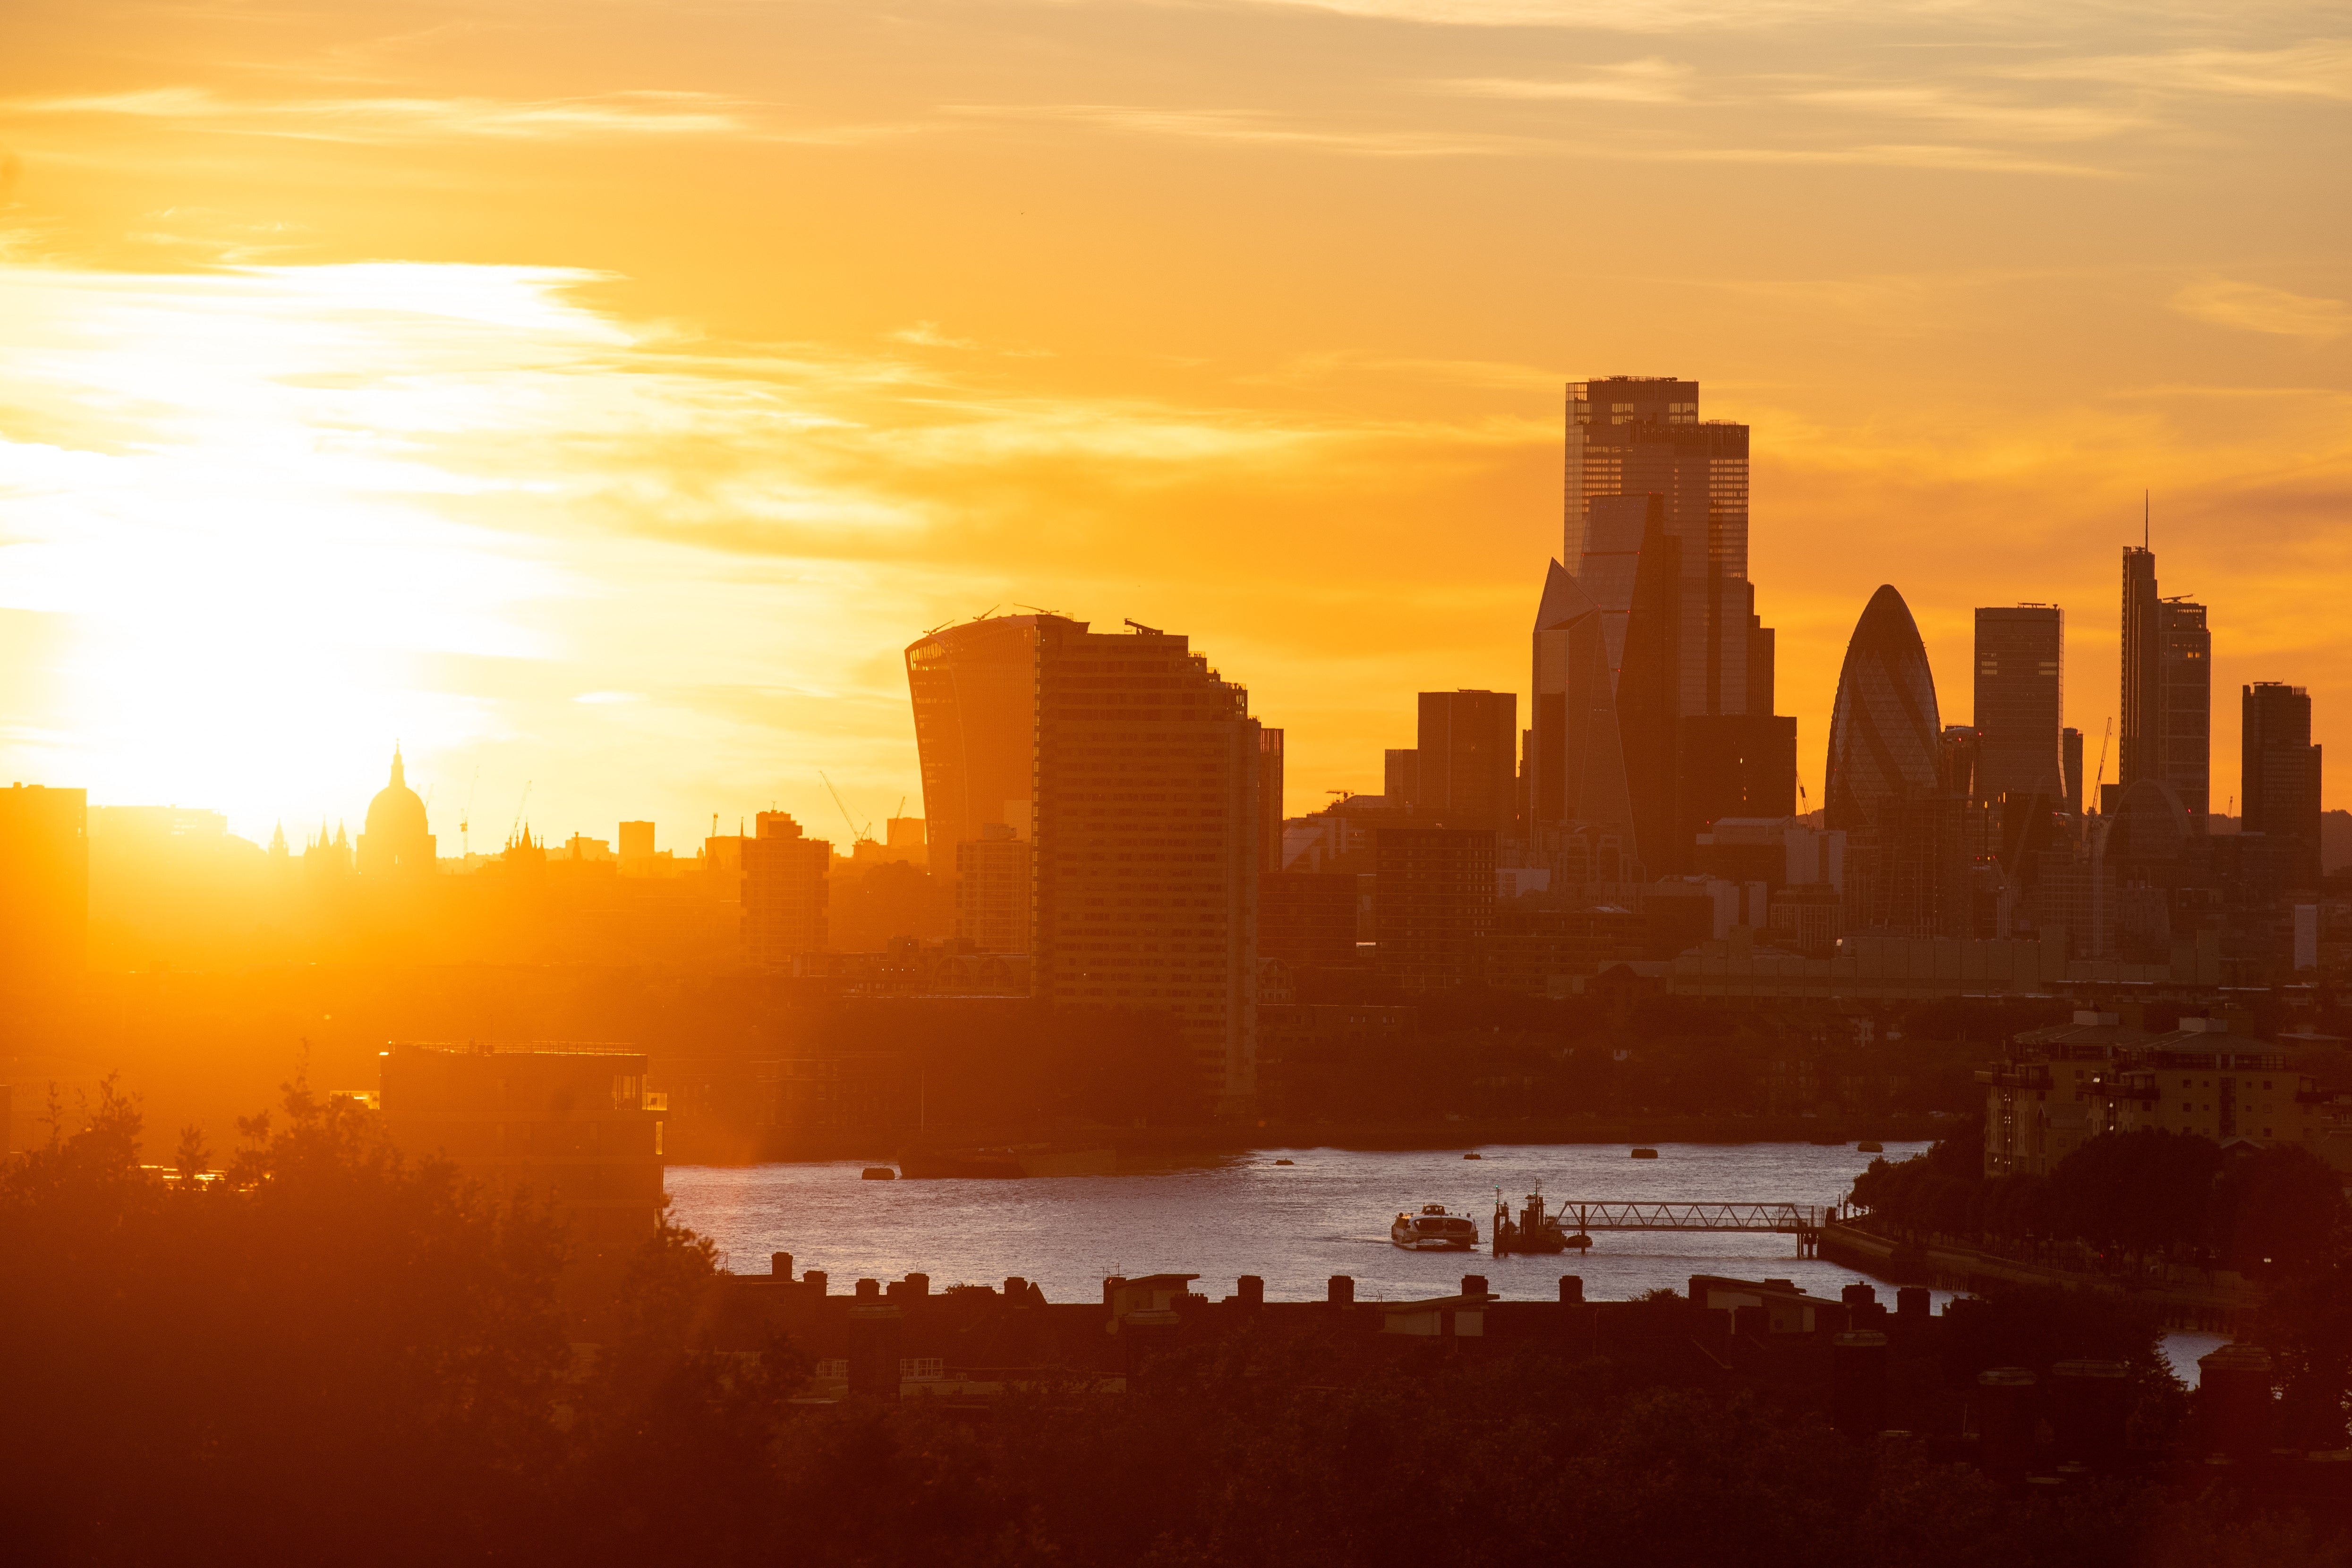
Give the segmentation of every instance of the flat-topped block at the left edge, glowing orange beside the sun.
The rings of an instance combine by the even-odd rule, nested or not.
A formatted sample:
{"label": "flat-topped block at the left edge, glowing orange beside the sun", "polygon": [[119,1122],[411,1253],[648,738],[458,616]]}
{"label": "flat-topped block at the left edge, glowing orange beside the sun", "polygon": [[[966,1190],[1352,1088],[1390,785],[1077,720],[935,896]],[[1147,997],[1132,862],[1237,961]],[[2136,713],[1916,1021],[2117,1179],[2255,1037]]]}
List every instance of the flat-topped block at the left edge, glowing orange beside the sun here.
{"label": "flat-topped block at the left edge, glowing orange beside the sun", "polygon": [[89,940],[89,809],[82,790],[0,790],[0,1039],[82,973]]}

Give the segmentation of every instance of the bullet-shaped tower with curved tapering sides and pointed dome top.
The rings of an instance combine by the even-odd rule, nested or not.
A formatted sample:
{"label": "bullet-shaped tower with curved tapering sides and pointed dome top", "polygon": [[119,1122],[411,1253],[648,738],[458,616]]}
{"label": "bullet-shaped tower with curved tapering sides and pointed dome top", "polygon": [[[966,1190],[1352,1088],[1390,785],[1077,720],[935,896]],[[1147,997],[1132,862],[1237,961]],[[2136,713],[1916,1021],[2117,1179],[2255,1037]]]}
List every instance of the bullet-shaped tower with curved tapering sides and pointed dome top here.
{"label": "bullet-shaped tower with curved tapering sides and pointed dome top", "polygon": [[1846,835],[1849,931],[1964,933],[1962,797],[1943,750],[1926,646],[1882,585],[1846,644],[1823,783],[1823,825]]}

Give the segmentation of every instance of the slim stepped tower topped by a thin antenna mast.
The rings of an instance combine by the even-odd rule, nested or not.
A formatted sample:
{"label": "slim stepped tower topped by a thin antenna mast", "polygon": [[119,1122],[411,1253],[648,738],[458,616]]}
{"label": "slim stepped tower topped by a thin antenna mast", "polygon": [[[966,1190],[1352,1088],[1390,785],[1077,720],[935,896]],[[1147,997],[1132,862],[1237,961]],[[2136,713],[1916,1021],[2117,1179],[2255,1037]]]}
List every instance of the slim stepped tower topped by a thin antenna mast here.
{"label": "slim stepped tower topped by a thin antenna mast", "polygon": [[2157,557],[2124,548],[2124,722],[2117,785],[2161,778],[2204,832],[2211,804],[2213,632],[2206,607],[2157,592]]}

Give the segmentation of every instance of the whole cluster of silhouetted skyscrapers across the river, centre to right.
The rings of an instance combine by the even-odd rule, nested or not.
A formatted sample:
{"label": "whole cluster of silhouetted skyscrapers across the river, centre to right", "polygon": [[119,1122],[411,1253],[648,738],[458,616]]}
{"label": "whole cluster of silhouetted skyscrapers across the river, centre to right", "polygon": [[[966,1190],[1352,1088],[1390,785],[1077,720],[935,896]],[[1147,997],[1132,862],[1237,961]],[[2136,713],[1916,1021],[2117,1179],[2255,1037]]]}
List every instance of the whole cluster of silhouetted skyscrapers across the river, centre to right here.
{"label": "whole cluster of silhouetted skyscrapers across the river, centre to right", "polygon": [[2310,701],[2246,689],[2244,832],[2213,832],[2206,609],[2159,592],[2145,541],[2124,550],[2122,733],[2089,785],[2058,604],[1976,611],[1962,724],[1882,585],[1799,811],[1748,578],[1748,425],[1703,421],[1696,381],[1609,376],[1566,388],[1564,449],[1524,715],[1512,691],[1421,691],[1378,795],[1284,818],[1282,731],[1185,637],[1023,614],[917,639],[957,938],[1030,954],[1056,1006],[1164,1016],[1225,1107],[1254,1093],[1261,1009],[1294,997],[1559,994],[1710,940],[1816,961],[1872,933],[2270,961],[2319,877]]}

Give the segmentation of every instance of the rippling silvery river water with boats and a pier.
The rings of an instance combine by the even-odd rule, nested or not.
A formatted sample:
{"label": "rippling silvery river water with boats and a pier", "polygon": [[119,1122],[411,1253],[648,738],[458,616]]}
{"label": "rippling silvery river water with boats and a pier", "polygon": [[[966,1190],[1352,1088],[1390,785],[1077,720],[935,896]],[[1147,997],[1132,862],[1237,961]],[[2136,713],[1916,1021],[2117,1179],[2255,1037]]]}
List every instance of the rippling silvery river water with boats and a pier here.
{"label": "rippling silvery river water with boats and a pier", "polygon": [[[1889,1145],[1889,1159],[1926,1145]],[[1576,1258],[1406,1253],[1388,1244],[1399,1208],[1446,1204],[1491,1241],[1494,1190],[1515,1204],[1543,1187],[1557,1199],[1722,1199],[1835,1204],[1872,1154],[1804,1143],[1658,1145],[1628,1159],[1625,1145],[1486,1145],[1461,1150],[1258,1150],[1204,1164],[1167,1164],[1122,1175],[1044,1180],[858,1180],[856,1164],[673,1166],[680,1222],[703,1232],[743,1274],[767,1272],[769,1253],[826,1269],[835,1288],[861,1276],[931,1276],[997,1284],[1037,1281],[1049,1300],[1098,1300],[1105,1274],[1200,1274],[1200,1291],[1228,1295],[1240,1274],[1265,1279],[1270,1300],[1322,1300],[1331,1274],[1352,1274],[1362,1300],[1451,1293],[1465,1272],[1515,1300],[1552,1300],[1562,1274],[1583,1274],[1592,1300],[1623,1300],[1691,1274],[1792,1279],[1837,1295],[1860,1274],[1797,1258],[1795,1237],[1599,1232]],[[1291,1166],[1277,1166],[1291,1159]]]}

